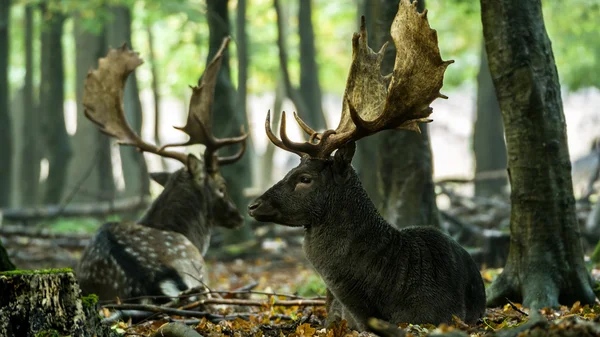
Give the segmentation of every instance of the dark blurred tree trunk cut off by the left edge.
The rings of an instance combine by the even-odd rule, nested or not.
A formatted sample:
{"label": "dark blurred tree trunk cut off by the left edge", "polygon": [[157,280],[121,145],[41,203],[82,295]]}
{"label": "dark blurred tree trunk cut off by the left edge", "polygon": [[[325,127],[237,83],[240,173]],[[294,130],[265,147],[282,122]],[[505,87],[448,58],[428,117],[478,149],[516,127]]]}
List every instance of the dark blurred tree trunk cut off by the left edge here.
{"label": "dark blurred tree trunk cut off by the left edge", "polygon": [[0,207],[10,205],[12,141],[9,113],[8,59],[10,1],[0,0]]}

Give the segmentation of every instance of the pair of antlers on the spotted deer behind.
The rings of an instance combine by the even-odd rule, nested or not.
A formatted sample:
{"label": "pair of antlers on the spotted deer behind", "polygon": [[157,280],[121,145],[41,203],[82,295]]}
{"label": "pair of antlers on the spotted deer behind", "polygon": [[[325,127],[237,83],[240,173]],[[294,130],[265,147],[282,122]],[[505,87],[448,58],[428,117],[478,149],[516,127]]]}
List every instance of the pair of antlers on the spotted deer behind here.
{"label": "pair of antlers on the spotted deer behind", "polygon": [[[211,107],[214,100],[215,84],[223,53],[231,39],[226,37],[206,67],[202,80],[193,90],[187,123],[184,127],[175,127],[185,132],[190,139],[180,144],[169,144],[159,148],[142,140],[131,129],[123,108],[125,82],[143,61],[139,55],[127,48],[125,44],[119,49],[110,49],[108,55],[99,60],[98,69],[88,72],[83,92],[85,116],[96,123],[102,132],[114,137],[121,145],[135,146],[140,151],[187,162],[187,155],[182,152],[165,150],[167,147],[203,144],[206,146],[204,158],[209,170],[218,169],[218,165],[234,163],[242,157],[246,150],[247,133],[242,126],[241,135],[232,138],[217,139],[212,134]],[[241,143],[240,151],[230,157],[218,157],[216,152],[226,145]]]}

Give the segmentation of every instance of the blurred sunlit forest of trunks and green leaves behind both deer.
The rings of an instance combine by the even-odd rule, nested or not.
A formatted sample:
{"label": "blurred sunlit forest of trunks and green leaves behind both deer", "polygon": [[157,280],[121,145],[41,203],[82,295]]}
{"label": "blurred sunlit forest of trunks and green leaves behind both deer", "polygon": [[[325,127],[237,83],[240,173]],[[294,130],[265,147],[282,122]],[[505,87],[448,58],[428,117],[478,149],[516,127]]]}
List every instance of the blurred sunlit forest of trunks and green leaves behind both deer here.
{"label": "blurred sunlit forest of trunks and green leaves behind both deer", "polygon": [[[127,83],[129,122],[149,141],[181,141],[184,136],[172,126],[184,124],[188,86],[197,83],[221,37],[230,34],[215,131],[236,134],[241,124],[250,131],[248,153],[224,170],[230,193],[245,209],[253,193],[297,163],[269,145],[263,129],[267,110],[275,110],[273,116],[295,110],[315,129],[335,128],[359,18],[367,17],[370,44],[379,48],[392,18],[382,13],[393,13],[397,2],[0,1],[0,207],[155,195],[159,187],[149,183],[147,172],[179,164],[116,147],[100,134],[82,114],[86,73],[108,47],[130,44],[145,64]],[[434,182],[443,178],[475,178],[467,192],[481,198],[508,195],[502,119],[482,49],[479,3],[425,5],[442,57],[455,60],[443,89],[450,99],[434,102],[435,122],[422,135],[390,132],[361,141],[354,163],[376,205],[398,226],[439,226],[438,207],[448,205],[439,198],[436,203],[440,190]],[[600,5],[545,0],[542,9],[574,160],[589,153],[600,126],[593,114],[600,104],[595,76]],[[299,128],[292,123],[288,128],[300,139]]]}

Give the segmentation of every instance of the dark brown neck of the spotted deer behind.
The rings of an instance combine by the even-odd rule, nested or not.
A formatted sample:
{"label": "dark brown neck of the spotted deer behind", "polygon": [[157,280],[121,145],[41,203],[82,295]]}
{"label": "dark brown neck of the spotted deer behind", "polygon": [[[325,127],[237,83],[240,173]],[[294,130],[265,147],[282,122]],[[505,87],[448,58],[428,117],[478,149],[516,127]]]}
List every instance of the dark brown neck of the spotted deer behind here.
{"label": "dark brown neck of the spotted deer behind", "polygon": [[181,233],[204,255],[210,242],[208,202],[195,191],[165,189],[139,223]]}

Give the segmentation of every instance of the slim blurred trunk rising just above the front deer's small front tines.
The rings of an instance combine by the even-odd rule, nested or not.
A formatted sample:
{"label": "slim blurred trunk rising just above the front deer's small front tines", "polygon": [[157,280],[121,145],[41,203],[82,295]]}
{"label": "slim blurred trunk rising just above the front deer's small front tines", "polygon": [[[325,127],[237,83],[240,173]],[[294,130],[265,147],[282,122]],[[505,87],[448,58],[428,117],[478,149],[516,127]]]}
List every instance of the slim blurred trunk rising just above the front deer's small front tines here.
{"label": "slim blurred trunk rising just above the front deer's small front tines", "polygon": [[312,24],[312,0],[300,0],[298,30],[300,34],[300,96],[306,103],[305,122],[315,130],[327,127],[321,99],[319,68],[315,50],[315,33]]}

